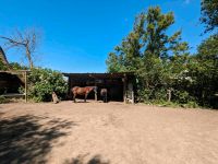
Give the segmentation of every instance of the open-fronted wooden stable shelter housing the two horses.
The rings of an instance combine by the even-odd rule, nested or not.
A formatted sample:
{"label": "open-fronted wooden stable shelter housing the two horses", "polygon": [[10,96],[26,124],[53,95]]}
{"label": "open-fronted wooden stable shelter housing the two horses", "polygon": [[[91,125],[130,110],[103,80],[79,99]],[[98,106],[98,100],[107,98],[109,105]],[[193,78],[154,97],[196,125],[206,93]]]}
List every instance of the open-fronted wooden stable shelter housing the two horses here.
{"label": "open-fronted wooden stable shelter housing the two horses", "polygon": [[123,73],[63,73],[68,78],[69,96],[72,98],[73,86],[97,86],[97,93],[88,98],[100,98],[100,90],[108,90],[109,101],[134,103],[135,77],[131,72]]}

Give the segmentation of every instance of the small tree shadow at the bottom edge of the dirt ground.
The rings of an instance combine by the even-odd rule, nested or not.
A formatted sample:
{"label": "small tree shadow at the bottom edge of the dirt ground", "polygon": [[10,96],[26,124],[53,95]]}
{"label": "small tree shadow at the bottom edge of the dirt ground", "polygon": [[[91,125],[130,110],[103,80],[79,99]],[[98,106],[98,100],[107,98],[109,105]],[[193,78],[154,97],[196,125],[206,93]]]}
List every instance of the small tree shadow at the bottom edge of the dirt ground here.
{"label": "small tree shadow at the bottom edge of the dirt ground", "polygon": [[109,161],[102,161],[100,155],[95,155],[88,161],[85,161],[87,155],[78,155],[72,160],[66,160],[63,164],[110,164]]}

